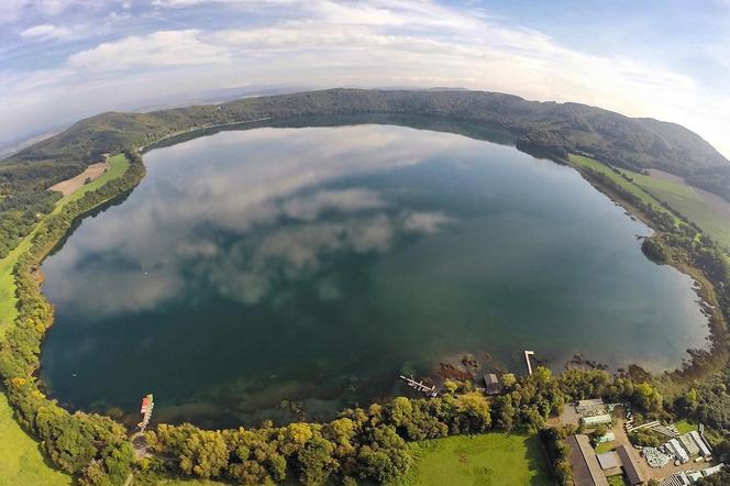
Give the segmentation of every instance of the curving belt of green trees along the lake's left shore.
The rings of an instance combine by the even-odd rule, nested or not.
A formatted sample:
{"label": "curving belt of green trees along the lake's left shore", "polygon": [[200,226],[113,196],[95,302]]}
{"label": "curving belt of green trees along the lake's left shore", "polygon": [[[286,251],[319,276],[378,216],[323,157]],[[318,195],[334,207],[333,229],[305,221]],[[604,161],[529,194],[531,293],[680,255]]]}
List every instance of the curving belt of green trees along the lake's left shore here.
{"label": "curving belt of green trees along the lake's left shore", "polygon": [[41,294],[35,270],[76,218],[141,180],[144,166],[140,157],[133,153],[128,157],[131,164],[123,176],[66,203],[40,223],[31,248],[13,269],[19,317],[0,341],[0,376],[19,422],[41,439],[56,467],[77,475],[84,485],[123,484],[134,453],[123,426],[99,415],[70,413],[38,388],[35,373],[43,336],[53,323],[53,308]]}

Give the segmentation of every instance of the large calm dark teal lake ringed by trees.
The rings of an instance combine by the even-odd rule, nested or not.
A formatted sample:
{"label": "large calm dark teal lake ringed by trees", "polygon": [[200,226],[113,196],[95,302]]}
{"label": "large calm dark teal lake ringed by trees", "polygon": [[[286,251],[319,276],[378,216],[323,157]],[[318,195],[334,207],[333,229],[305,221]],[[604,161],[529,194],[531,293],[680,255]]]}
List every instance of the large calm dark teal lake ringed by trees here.
{"label": "large calm dark teal lake ringed by trees", "polygon": [[[474,354],[670,368],[704,346],[692,280],[646,259],[568,167],[405,126],[222,132],[144,157],[43,265],[62,402],[201,424],[308,419]],[[487,356],[488,353],[488,356]]]}

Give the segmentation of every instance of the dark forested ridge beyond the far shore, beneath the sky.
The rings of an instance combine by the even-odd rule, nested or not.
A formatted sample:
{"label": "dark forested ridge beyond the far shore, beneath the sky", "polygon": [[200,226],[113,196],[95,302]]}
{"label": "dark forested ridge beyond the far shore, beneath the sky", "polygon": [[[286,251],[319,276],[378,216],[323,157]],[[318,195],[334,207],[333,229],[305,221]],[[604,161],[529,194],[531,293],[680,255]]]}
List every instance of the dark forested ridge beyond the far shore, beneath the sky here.
{"label": "dark forested ridge beyond the far shore, beneath the sky", "polygon": [[[103,153],[142,145],[195,126],[261,118],[351,113],[456,117],[502,129],[526,151],[556,156],[584,152],[632,169],[660,168],[687,177],[730,200],[730,163],[683,126],[632,119],[578,103],[527,101],[510,95],[454,90],[330,89],[150,113],[102,113],[7,158],[2,163],[5,167],[0,165],[0,180],[3,185],[9,183],[9,165],[14,167],[16,178],[38,177],[29,163],[56,168],[89,164],[98,162]],[[66,172],[63,170],[64,176]]]}

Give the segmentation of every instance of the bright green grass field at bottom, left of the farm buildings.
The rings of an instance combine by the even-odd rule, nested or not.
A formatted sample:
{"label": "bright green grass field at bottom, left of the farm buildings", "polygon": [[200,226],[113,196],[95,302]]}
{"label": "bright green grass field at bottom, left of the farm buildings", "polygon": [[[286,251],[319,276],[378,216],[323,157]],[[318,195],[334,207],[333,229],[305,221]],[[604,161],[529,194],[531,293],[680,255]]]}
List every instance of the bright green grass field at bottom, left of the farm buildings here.
{"label": "bright green grass field at bottom, left of the farm buildings", "polygon": [[537,437],[485,433],[411,445],[419,455],[403,485],[552,485]]}

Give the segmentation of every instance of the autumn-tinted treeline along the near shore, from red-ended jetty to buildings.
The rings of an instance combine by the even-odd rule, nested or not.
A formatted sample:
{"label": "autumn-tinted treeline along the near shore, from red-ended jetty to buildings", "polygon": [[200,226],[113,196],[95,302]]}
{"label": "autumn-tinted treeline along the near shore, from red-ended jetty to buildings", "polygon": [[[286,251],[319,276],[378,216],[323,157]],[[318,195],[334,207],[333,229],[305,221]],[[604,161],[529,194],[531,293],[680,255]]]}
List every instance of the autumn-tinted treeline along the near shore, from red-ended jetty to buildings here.
{"label": "autumn-tinted treeline along the near shore, from red-ended jetty to buildings", "polygon": [[[505,395],[494,402],[472,390],[471,383],[446,382],[436,398],[399,397],[385,405],[347,409],[328,423],[291,423],[256,429],[202,430],[196,426],[158,426],[146,433],[155,454],[143,460],[148,475],[184,475],[236,484],[297,479],[305,484],[334,481],[391,483],[416,461],[408,442],[479,433],[491,429],[539,432],[564,404],[588,397],[630,401],[637,413],[663,417],[661,395],[649,383],[605,371],[571,369],[553,376],[538,367],[532,376],[505,375]],[[560,433],[566,433],[562,431]],[[557,467],[569,478],[561,437],[541,438]],[[144,474],[142,474],[144,478]]]}

